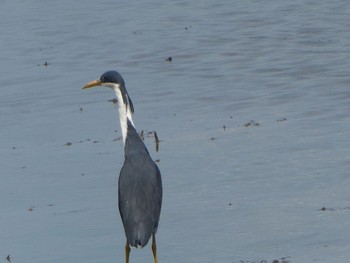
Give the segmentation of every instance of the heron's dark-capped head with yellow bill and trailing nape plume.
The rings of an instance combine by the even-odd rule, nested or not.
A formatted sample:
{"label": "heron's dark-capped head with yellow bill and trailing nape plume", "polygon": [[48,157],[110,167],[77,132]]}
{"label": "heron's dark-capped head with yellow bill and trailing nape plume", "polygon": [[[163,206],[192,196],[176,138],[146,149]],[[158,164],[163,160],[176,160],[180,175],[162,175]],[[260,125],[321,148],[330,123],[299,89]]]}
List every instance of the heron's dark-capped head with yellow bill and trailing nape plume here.
{"label": "heron's dark-capped head with yellow bill and trailing nape plume", "polygon": [[[114,70],[107,71],[107,72],[102,74],[100,79],[96,79],[96,80],[93,80],[93,81],[87,83],[83,87],[83,89],[89,89],[89,88],[98,87],[98,86],[105,86],[105,87],[113,89],[114,92],[117,94],[118,98],[122,97],[123,101],[119,101],[119,103],[123,103],[127,107],[129,106],[131,113],[134,113],[134,106],[133,106],[132,101],[128,95],[128,92],[126,91],[124,79],[123,79],[122,75],[120,75],[119,72],[114,71]],[[118,96],[119,94],[121,96]]]}

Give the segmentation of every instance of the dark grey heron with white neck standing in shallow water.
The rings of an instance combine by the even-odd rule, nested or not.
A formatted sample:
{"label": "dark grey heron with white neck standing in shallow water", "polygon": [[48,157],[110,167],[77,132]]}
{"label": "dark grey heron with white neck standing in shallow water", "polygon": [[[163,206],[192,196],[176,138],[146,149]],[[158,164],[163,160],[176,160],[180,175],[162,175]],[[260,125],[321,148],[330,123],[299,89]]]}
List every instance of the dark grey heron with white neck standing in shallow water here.
{"label": "dark grey heron with white neck standing in shallow water", "polygon": [[152,237],[153,258],[158,263],[156,232],[163,196],[159,168],[136,131],[132,119],[134,106],[121,74],[107,71],[83,89],[98,86],[111,88],[118,101],[124,143],[124,164],[118,180],[118,207],[126,236],[125,262],[129,262],[130,246],[143,248]]}

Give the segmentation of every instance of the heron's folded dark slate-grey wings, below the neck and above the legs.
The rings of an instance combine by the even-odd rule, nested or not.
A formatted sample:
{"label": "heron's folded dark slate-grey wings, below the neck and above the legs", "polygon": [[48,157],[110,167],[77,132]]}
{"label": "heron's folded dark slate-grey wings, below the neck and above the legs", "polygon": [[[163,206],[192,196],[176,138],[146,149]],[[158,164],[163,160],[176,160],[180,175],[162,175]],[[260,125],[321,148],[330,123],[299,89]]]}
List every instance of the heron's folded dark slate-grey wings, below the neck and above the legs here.
{"label": "heron's folded dark slate-grey wings, below the neck and above the legs", "polygon": [[162,204],[160,171],[148,154],[125,160],[119,176],[118,198],[128,243],[145,246],[157,231]]}

